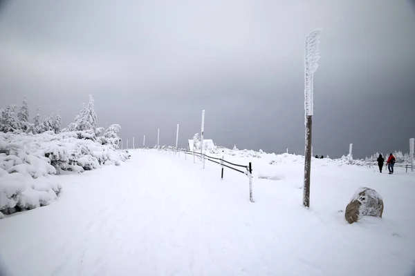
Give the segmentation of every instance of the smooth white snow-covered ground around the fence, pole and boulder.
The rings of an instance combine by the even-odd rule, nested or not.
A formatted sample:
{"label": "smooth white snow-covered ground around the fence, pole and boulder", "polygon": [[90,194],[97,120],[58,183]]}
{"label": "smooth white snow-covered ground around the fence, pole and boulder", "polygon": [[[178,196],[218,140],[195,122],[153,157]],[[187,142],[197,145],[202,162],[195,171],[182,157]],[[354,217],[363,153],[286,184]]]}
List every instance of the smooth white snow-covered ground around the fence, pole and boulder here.
{"label": "smooth white snow-covered ground around the fence, pole and boulder", "polygon": [[[303,157],[225,158],[252,161],[255,203],[245,175],[221,180],[219,165],[183,153],[131,151],[122,166],[50,176],[54,204],[0,220],[3,262],[13,276],[410,275],[415,173],[313,159],[306,210]],[[383,218],[348,224],[360,186],[382,195]]]}

